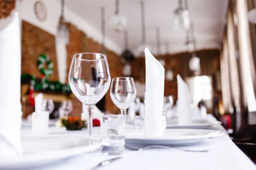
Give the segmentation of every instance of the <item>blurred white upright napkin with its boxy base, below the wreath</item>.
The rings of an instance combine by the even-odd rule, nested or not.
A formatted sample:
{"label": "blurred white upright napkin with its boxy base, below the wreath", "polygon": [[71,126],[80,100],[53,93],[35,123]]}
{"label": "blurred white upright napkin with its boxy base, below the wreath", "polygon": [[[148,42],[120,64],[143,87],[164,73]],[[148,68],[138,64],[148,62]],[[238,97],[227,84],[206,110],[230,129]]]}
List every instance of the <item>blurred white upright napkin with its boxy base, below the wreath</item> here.
{"label": "blurred white upright napkin with its boxy base, below the wreath", "polygon": [[32,113],[31,133],[47,134],[49,133],[49,112],[43,108],[43,94],[35,96],[35,112]]}

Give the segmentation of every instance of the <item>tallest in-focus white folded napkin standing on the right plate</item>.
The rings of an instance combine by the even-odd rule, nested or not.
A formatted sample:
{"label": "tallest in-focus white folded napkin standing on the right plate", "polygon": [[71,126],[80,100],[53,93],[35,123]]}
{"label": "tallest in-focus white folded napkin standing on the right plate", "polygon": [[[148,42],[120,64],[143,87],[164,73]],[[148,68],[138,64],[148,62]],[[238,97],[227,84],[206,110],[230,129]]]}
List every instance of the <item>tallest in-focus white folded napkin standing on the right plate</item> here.
{"label": "tallest in-focus white folded napkin standing on the right plate", "polygon": [[163,113],[164,68],[145,48],[146,91],[145,91],[145,136],[163,136],[166,117]]}

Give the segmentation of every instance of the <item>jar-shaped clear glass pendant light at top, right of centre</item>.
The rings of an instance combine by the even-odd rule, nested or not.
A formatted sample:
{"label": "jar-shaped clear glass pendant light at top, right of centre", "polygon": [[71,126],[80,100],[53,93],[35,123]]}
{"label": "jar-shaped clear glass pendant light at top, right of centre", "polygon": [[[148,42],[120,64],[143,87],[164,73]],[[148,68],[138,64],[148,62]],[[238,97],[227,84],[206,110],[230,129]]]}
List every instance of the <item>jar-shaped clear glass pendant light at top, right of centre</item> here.
{"label": "jar-shaped clear glass pendant light at top, right of centre", "polygon": [[184,0],[185,4],[183,7],[182,0],[178,0],[178,8],[174,11],[174,28],[175,29],[189,29],[190,20],[189,20],[189,10],[188,10],[188,1]]}

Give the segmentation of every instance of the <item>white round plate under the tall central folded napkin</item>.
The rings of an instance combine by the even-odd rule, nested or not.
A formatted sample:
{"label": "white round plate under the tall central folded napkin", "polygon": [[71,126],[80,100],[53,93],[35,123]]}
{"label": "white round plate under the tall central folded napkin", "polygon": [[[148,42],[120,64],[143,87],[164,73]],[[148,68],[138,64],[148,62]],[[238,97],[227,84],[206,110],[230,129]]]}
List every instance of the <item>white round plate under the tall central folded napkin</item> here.
{"label": "white round plate under the tall central folded napkin", "polygon": [[125,145],[131,147],[150,145],[189,146],[223,134],[221,131],[204,129],[166,129],[163,137],[147,137],[143,133],[127,133],[125,135]]}

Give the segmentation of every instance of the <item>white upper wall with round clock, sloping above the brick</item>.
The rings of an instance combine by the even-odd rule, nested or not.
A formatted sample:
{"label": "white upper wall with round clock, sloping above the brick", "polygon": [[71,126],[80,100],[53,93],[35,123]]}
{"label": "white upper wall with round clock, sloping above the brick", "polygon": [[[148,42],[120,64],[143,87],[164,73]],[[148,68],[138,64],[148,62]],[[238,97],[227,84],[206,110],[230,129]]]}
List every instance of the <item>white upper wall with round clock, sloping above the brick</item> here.
{"label": "white upper wall with round clock, sloping above the brick", "polygon": [[[20,20],[25,20],[50,34],[55,35],[57,32],[57,26],[59,17],[61,14],[61,4],[59,1],[55,0],[41,0],[47,8],[47,18],[45,21],[40,21],[36,18],[34,13],[34,4],[37,0],[17,0],[15,11],[19,13]],[[92,37],[94,40],[101,42],[101,34],[93,28],[86,20],[79,17],[75,12],[71,11],[69,8],[65,8],[65,20],[72,23],[80,30],[84,31],[88,37]],[[1,22],[1,21],[0,21]],[[122,49],[106,37],[105,45],[107,48],[120,54]]]}

